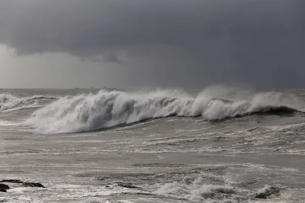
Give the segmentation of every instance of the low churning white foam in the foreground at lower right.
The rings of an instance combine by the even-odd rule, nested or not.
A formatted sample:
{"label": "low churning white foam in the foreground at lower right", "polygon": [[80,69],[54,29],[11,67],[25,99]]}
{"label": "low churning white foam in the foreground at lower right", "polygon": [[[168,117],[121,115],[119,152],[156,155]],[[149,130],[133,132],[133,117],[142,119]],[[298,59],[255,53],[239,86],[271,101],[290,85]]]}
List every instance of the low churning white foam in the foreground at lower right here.
{"label": "low churning white foam in the foreground at lower right", "polygon": [[[206,184],[202,177],[197,179],[185,177],[180,181],[166,183],[156,193],[174,197],[181,200],[193,200],[198,202],[248,202],[250,199],[267,199],[278,196],[286,187],[281,185],[265,185],[257,192],[246,188],[230,185]],[[233,200],[234,199],[234,200]]]}

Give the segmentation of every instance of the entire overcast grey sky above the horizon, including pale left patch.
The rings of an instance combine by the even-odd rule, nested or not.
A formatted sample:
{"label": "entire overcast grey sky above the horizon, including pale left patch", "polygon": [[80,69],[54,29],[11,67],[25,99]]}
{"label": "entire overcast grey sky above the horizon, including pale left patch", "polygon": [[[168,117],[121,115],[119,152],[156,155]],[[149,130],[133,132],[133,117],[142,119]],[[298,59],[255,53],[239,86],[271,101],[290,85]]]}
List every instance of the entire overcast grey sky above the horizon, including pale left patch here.
{"label": "entire overcast grey sky above the horizon, including pale left patch", "polygon": [[304,79],[304,0],[0,1],[0,88],[302,88]]}

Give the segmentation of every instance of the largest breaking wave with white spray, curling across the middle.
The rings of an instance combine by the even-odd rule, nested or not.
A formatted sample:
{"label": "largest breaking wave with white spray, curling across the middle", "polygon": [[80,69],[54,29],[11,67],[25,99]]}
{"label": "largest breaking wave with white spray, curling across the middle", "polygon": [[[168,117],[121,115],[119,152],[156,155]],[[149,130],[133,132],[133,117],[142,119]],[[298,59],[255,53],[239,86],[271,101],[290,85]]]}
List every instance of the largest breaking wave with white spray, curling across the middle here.
{"label": "largest breaking wave with white spray, curling across the middle", "polygon": [[280,104],[279,94],[256,94],[244,100],[212,98],[206,92],[193,97],[180,91],[128,93],[101,90],[97,94],[66,96],[33,113],[25,124],[38,133],[95,130],[123,123],[167,116],[203,116],[207,120],[255,112],[294,111]]}

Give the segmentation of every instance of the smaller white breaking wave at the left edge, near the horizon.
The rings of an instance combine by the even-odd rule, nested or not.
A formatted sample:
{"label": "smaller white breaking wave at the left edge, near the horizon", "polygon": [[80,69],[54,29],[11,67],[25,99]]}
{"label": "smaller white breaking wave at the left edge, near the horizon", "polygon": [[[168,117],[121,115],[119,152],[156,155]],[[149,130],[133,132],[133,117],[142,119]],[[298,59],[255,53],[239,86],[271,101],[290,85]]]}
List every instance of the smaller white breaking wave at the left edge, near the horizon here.
{"label": "smaller white breaking wave at the left edge, near the horizon", "polygon": [[15,97],[10,94],[0,94],[0,112],[9,110],[21,105],[27,105],[40,99],[56,99],[52,96],[35,95],[31,97]]}

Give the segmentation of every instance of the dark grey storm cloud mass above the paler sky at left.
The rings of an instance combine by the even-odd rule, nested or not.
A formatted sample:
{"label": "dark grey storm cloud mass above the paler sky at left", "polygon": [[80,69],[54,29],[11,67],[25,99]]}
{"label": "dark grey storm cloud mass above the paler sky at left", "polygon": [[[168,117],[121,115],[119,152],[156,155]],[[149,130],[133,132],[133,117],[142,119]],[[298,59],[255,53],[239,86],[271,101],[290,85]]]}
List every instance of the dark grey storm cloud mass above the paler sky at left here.
{"label": "dark grey storm cloud mass above the paler sky at left", "polygon": [[19,55],[131,62],[131,71],[146,69],[161,85],[178,78],[300,86],[304,11],[302,0],[2,1],[0,43]]}

